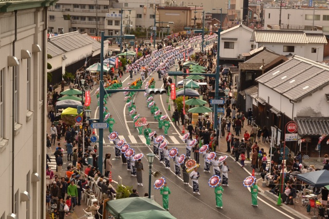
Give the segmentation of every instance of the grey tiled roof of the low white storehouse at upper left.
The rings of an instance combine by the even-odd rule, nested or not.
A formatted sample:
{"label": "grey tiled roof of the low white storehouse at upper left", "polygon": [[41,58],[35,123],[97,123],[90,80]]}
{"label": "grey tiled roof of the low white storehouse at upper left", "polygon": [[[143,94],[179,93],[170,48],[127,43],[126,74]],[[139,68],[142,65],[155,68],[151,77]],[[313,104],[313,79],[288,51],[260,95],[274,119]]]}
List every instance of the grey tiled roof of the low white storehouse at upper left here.
{"label": "grey tiled roof of the low white storehouse at upper left", "polygon": [[50,41],[64,51],[71,51],[93,43],[93,41],[86,39],[78,31],[54,36],[50,38]]}

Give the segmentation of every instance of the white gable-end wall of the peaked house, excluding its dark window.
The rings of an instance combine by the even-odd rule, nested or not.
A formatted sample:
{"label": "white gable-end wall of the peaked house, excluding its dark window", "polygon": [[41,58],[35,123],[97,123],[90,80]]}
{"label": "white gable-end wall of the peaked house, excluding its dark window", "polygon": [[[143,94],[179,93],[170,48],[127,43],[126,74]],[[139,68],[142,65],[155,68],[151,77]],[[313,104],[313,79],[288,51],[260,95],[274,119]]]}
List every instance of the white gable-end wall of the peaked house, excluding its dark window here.
{"label": "white gable-end wall of the peaked house, excluding its dark window", "polygon": [[[232,58],[236,59],[239,54],[250,51],[250,38],[252,32],[243,27],[221,34],[220,54],[221,59]],[[223,38],[237,38],[237,41],[227,41]],[[224,42],[234,42],[234,49],[225,49]]]}

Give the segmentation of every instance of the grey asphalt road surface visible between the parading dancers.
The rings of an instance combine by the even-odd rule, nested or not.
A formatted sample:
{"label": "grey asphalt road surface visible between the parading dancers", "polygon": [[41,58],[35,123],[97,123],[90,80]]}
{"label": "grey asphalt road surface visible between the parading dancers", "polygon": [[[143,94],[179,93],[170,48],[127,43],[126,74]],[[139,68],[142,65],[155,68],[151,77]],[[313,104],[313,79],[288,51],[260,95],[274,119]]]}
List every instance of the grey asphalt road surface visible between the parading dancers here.
{"label": "grey asphalt road surface visible between the parading dancers", "polygon": [[[196,50],[199,51],[199,50]],[[134,80],[140,77],[139,75],[134,75]],[[157,88],[163,85],[162,80],[157,79],[156,72],[151,75],[155,78]],[[146,81],[151,79],[148,78]],[[121,79],[123,82],[123,87],[127,83],[133,80],[129,79],[127,74]],[[177,80],[178,81],[178,80]],[[95,118],[98,118],[97,113],[97,99],[94,88],[92,91],[92,114]],[[147,147],[143,141],[144,139],[138,136],[137,129],[134,129],[132,119],[129,116],[127,107],[125,106],[125,101],[123,100],[123,93],[113,94],[107,99],[106,106],[109,112],[113,115],[116,121],[114,125],[114,131],[118,132],[121,138],[125,138],[126,142],[130,143],[131,147],[135,149],[136,153],[143,153],[142,163],[144,166],[143,172],[143,187],[137,186],[136,177],[132,177],[130,171],[127,171],[127,166],[122,164],[121,159],[112,159],[113,164],[113,179],[117,181],[118,176],[123,179],[123,185],[133,186],[137,188],[140,196],[149,191],[149,165],[146,158],[146,154],[153,151],[153,145],[151,143],[151,148]],[[168,104],[166,103],[167,95],[155,95],[154,101],[157,103],[162,115],[168,114],[171,118],[173,109],[168,111]],[[150,122],[150,128],[152,131],[156,131],[157,134],[163,135],[163,130],[158,129],[158,123],[153,119],[153,115],[150,113],[150,109],[147,107],[146,98],[143,93],[138,93],[135,96],[135,104],[137,107],[137,114],[141,117],[146,117]],[[155,122],[155,123],[153,123]],[[144,130],[144,129],[143,129]],[[110,143],[107,136],[108,130],[104,130],[104,154],[111,152],[114,157],[114,147],[113,143]],[[169,141],[169,148],[178,148],[179,153],[186,153],[185,144],[181,140],[181,134],[177,131],[176,127],[171,123],[171,127],[168,132],[168,137],[166,140]],[[242,185],[242,181],[245,177],[250,174],[241,168],[232,158],[227,159],[228,166],[232,173],[229,173],[229,187],[224,187],[223,192],[223,209],[217,209],[215,207],[215,194],[214,189],[208,186],[209,178],[212,176],[211,173],[204,173],[204,159],[200,156],[200,178],[199,178],[199,190],[200,195],[193,194],[191,186],[184,185],[182,181],[182,176],[178,177],[174,173],[174,162],[171,159],[171,170],[165,169],[165,165],[160,163],[156,158],[153,164],[153,171],[161,172],[162,177],[165,177],[168,182],[168,187],[171,190],[170,200],[169,200],[169,211],[177,218],[298,218],[292,213],[277,207],[275,204],[267,200],[267,198],[259,195],[258,207],[251,206],[251,194],[250,191]],[[154,195],[154,199],[157,203],[162,205],[162,198],[160,196],[159,190],[155,190],[153,187],[154,181],[156,179],[152,176],[151,182],[151,195]],[[190,180],[190,185],[192,182]]]}

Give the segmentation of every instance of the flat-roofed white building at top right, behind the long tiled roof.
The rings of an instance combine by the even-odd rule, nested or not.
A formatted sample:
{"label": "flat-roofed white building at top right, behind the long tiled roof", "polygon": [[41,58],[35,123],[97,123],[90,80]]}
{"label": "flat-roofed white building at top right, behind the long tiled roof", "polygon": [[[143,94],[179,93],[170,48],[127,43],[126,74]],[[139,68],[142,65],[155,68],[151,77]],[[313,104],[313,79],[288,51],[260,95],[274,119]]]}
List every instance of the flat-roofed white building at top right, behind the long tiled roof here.
{"label": "flat-roofed white building at top right, behind the long tiled roof", "polygon": [[[313,13],[315,14],[313,16]],[[264,28],[268,25],[279,25],[280,8],[265,8]],[[305,29],[318,28],[325,34],[329,32],[329,9],[316,8],[282,8],[281,29]]]}

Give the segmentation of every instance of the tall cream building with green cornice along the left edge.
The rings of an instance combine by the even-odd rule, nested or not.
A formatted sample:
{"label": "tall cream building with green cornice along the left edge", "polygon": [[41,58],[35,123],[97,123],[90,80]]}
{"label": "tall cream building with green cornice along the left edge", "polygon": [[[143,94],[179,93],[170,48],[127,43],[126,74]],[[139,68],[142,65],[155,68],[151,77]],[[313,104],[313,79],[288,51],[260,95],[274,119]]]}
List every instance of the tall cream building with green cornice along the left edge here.
{"label": "tall cream building with green cornice along the left edge", "polygon": [[0,2],[1,218],[45,218],[49,4]]}

